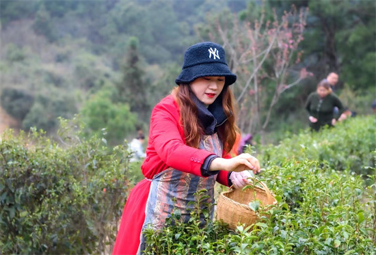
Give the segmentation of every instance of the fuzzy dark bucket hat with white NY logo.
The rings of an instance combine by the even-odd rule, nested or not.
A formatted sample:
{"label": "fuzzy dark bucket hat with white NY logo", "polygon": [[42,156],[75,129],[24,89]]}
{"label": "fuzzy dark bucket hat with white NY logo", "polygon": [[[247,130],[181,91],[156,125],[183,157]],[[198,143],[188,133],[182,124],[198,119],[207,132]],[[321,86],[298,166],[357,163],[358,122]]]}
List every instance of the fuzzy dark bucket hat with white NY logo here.
{"label": "fuzzy dark bucket hat with white NY logo", "polygon": [[225,85],[237,81],[237,76],[228,68],[224,48],[214,42],[200,42],[185,51],[183,68],[175,82],[190,83],[206,76],[224,76]]}

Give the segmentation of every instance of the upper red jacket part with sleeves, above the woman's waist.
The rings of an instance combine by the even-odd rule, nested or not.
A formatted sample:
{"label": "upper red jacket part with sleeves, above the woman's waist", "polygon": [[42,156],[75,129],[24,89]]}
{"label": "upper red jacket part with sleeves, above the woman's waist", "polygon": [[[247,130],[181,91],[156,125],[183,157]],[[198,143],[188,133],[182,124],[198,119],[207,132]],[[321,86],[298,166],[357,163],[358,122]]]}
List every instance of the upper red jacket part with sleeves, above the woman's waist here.
{"label": "upper red jacket part with sleeves, above the woman's waist", "polygon": [[[144,176],[152,179],[168,167],[202,176],[201,165],[209,155],[213,155],[213,152],[185,144],[178,104],[171,95],[163,98],[152,110],[149,143],[141,167]],[[228,172],[220,171],[217,181],[228,186],[227,175]]]}

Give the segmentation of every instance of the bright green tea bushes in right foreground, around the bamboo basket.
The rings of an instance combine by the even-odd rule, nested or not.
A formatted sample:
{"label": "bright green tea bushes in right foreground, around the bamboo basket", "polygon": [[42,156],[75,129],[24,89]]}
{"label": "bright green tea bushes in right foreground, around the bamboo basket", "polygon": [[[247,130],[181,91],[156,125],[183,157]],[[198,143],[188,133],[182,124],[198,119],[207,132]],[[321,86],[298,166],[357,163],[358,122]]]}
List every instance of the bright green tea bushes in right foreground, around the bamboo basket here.
{"label": "bright green tea bushes in right foreground, around the bamboo basket", "polygon": [[256,224],[232,232],[217,221],[200,228],[197,211],[183,224],[175,211],[174,224],[146,230],[146,254],[375,254],[375,184],[364,188],[360,176],[294,159],[264,178],[278,200],[269,217],[256,211]]}

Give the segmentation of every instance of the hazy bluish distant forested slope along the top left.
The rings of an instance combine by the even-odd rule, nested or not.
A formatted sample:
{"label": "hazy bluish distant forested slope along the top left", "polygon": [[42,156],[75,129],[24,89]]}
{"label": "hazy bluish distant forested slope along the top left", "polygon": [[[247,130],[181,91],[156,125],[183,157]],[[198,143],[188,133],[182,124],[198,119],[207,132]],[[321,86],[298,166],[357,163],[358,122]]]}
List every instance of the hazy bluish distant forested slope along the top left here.
{"label": "hazy bluish distant forested slope along the top left", "polygon": [[26,19],[36,34],[56,44],[85,40],[88,51],[107,55],[116,68],[130,36],[138,38],[149,64],[176,62],[197,41],[193,26],[206,14],[226,8],[239,12],[246,6],[245,0],[1,1],[1,23],[3,29],[16,29],[12,22]]}

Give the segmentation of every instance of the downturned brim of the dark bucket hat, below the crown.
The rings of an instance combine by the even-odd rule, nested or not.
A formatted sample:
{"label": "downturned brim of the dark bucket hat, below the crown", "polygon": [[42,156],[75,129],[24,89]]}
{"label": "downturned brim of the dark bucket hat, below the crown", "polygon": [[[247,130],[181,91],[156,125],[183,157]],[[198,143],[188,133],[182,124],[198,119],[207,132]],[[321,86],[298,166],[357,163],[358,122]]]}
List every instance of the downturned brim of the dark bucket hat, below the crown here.
{"label": "downturned brim of the dark bucket hat, below the crown", "polygon": [[175,83],[177,85],[180,83],[191,83],[197,78],[209,76],[224,76],[225,85],[231,85],[237,81],[237,76],[230,71],[226,64],[204,63],[184,68],[178,78],[176,78]]}

